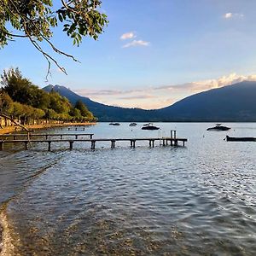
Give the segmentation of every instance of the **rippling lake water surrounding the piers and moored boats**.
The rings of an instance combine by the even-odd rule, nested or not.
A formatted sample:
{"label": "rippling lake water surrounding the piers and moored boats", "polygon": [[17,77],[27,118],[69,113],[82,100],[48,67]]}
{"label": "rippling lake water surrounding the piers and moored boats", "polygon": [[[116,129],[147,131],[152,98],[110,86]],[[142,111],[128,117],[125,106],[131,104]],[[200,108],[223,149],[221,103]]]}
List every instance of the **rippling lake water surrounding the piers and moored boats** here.
{"label": "rippling lake water surrounding the piers and moored boats", "polygon": [[[186,147],[54,143],[0,152],[3,255],[256,255],[256,124],[97,124],[95,137],[162,137]],[[214,125],[214,124],[213,124]],[[42,131],[40,131],[42,132]]]}

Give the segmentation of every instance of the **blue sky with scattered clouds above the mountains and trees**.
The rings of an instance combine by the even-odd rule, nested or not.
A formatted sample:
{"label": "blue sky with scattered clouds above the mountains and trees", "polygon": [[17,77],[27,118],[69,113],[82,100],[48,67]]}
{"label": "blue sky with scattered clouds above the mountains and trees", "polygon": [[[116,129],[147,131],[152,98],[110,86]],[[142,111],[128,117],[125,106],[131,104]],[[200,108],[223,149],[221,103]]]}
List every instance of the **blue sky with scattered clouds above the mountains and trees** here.
{"label": "blue sky with scattered clouds above the mountains and trees", "polygon": [[[54,1],[56,2],[56,1]],[[127,108],[164,108],[186,96],[256,80],[255,0],[102,0],[108,26],[79,47],[54,30],[67,75],[23,38],[0,49],[0,73],[19,67],[39,87],[64,85],[81,96]]]}

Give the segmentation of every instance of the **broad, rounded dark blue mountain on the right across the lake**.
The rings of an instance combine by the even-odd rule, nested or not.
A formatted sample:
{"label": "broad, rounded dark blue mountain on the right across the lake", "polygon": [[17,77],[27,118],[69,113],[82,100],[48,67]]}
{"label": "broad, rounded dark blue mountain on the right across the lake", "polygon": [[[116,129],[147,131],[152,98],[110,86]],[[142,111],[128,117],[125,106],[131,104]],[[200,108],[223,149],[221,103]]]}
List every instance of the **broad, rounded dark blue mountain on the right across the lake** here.
{"label": "broad, rounded dark blue mountain on the right across the lake", "polygon": [[163,121],[256,121],[256,82],[207,90],[157,110]]}

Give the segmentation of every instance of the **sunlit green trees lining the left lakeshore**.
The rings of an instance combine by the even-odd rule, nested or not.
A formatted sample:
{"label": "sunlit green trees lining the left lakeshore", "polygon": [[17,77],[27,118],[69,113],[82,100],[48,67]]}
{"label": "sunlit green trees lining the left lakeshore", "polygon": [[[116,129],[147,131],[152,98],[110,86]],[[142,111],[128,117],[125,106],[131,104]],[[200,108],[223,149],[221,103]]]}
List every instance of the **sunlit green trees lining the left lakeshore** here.
{"label": "sunlit green trees lining the left lakeshore", "polygon": [[72,105],[55,91],[45,92],[22,76],[19,68],[3,71],[0,80],[0,128],[12,125],[50,125],[95,122],[83,102]]}

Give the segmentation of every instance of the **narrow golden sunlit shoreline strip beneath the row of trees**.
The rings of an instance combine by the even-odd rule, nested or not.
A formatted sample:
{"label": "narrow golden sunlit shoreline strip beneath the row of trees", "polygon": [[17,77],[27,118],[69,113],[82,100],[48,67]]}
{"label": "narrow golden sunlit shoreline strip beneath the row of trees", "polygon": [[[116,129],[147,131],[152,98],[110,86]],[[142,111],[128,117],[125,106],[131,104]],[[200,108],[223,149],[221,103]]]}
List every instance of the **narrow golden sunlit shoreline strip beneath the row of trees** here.
{"label": "narrow golden sunlit shoreline strip beneath the row of trees", "polygon": [[[33,129],[37,130],[37,129],[47,129],[47,128],[53,128],[53,127],[89,126],[89,125],[96,125],[96,122],[90,122],[90,123],[65,123],[65,124],[51,124],[51,125],[26,125],[26,128],[32,129],[32,130]],[[19,126],[16,126],[16,125],[4,127],[3,129],[0,129],[0,135],[7,134],[7,133],[12,133],[14,131],[22,131],[22,129]],[[1,232],[1,230],[0,230],[0,232]]]}

